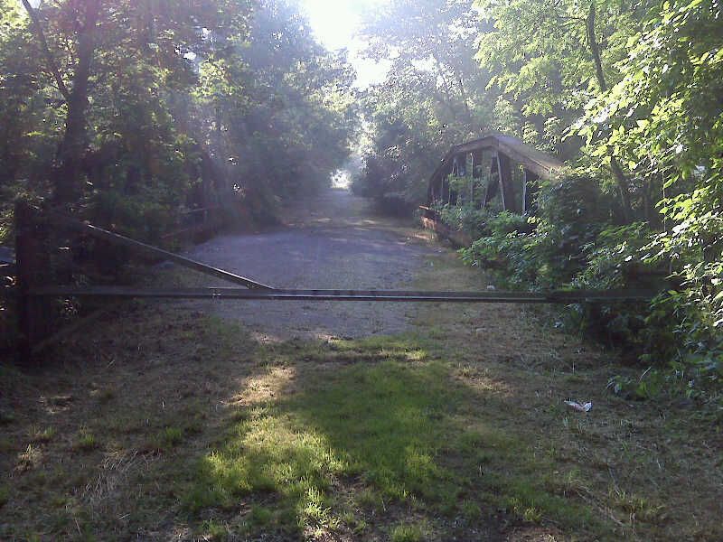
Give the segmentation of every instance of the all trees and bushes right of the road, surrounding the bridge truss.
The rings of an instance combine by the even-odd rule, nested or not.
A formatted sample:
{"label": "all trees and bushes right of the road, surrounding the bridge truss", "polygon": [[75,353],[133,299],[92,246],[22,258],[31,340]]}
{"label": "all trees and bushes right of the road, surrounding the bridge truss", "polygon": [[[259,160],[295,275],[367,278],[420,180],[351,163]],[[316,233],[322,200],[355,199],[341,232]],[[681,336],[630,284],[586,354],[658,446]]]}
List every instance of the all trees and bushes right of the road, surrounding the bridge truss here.
{"label": "all trees and bushes right of the road, surrounding the bridge truss", "polygon": [[720,4],[399,0],[365,33],[372,54],[395,60],[364,101],[373,135],[355,190],[411,212],[447,150],[492,131],[559,157],[568,171],[540,182],[533,213],[470,199],[489,175],[452,172],[455,201],[434,211],[474,240],[465,261],[525,290],[657,287],[635,310],[574,305],[568,326],[634,350],[655,388],[718,388]]}

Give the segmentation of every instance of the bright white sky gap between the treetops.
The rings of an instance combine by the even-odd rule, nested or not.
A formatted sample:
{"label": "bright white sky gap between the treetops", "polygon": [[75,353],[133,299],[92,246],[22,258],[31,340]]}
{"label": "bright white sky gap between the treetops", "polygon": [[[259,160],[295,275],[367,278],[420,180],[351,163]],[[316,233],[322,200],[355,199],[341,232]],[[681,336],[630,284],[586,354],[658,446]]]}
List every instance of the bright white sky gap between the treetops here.
{"label": "bright white sky gap between the treetops", "polygon": [[365,89],[371,83],[381,82],[390,68],[390,62],[362,59],[366,43],[356,34],[362,24],[362,14],[378,9],[388,0],[301,0],[309,23],[320,42],[327,49],[346,48],[349,61],[357,72],[356,86]]}

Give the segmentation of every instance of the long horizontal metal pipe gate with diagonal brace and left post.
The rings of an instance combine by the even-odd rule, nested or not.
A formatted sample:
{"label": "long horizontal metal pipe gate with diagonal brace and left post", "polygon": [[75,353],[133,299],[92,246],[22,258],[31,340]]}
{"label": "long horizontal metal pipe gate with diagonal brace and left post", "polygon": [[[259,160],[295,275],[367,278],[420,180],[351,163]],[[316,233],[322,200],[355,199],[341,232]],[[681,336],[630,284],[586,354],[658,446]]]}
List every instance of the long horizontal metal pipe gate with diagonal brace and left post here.
{"label": "long horizontal metal pipe gate with diagonal brace and left post", "polygon": [[[158,299],[213,299],[247,301],[371,301],[407,303],[518,303],[518,304],[577,304],[577,303],[635,303],[650,300],[655,292],[643,290],[552,290],[547,292],[430,292],[408,290],[340,290],[340,289],[287,289],[275,288],[225,269],[209,266],[136,239],[81,222],[55,210],[39,212],[23,201],[15,205],[15,248],[17,255],[18,319],[23,340],[20,341],[20,359],[30,360],[38,347],[50,339],[42,337],[42,309],[39,302],[47,298],[158,298]],[[36,276],[35,256],[40,248],[34,237],[39,220],[65,227],[112,245],[143,252],[174,264],[191,268],[209,276],[222,278],[243,287],[205,288],[135,288],[124,286],[68,286],[42,285]],[[47,327],[47,326],[45,326]],[[40,330],[40,332],[39,332]],[[37,345],[36,345],[37,343]]]}

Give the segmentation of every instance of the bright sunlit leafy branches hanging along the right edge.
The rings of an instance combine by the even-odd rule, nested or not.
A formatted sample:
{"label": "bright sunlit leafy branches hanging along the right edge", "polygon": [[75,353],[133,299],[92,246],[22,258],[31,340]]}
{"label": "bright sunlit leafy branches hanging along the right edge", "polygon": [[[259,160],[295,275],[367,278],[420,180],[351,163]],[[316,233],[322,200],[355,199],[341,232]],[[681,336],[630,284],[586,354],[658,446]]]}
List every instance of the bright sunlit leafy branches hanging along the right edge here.
{"label": "bright sunlit leafy branches hanging along the right edge", "polygon": [[668,377],[690,375],[696,386],[701,367],[718,365],[723,325],[720,20],[715,2],[650,10],[618,63],[622,79],[576,126],[594,154],[620,156],[643,190],[659,191],[662,231],[639,254],[669,266],[681,289],[653,302],[643,360],[670,364]]}

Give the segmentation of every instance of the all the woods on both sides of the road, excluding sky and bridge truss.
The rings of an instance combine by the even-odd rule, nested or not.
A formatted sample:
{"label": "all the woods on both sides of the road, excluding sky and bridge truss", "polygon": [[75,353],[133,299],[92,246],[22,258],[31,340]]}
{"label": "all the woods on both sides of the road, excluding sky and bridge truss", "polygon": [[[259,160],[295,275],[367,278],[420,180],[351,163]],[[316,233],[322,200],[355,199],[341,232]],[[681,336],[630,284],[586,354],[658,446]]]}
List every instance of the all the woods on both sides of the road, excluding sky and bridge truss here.
{"label": "all the woods on both sides of the road, excluding sky and bridge truss", "polygon": [[[681,381],[718,379],[717,2],[395,0],[365,15],[367,54],[393,60],[365,91],[281,0],[0,8],[0,242],[17,197],[165,245],[190,210],[276,220],[354,145],[354,190],[410,213],[448,148],[498,131],[568,170],[502,213],[474,197],[436,209],[474,240],[465,260],[533,290],[670,275],[683,287],[653,284],[666,291],[650,306],[578,306],[572,325],[681,363]],[[473,170],[448,192],[474,193]]]}

